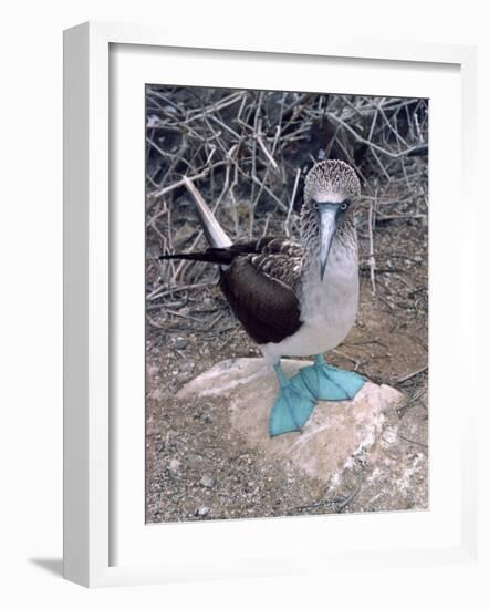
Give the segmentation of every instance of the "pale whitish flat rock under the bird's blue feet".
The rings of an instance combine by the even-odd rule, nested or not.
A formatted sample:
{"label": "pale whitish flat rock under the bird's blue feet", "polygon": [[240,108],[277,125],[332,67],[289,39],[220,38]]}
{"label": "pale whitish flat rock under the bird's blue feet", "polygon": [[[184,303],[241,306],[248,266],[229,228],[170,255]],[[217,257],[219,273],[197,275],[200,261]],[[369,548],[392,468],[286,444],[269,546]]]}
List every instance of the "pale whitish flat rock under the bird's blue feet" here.
{"label": "pale whitish flat rock under the bird's blue feet", "polygon": [[[282,365],[291,376],[311,362],[282,360]],[[289,462],[333,486],[354,464],[363,467],[366,461],[372,463],[370,453],[382,460],[377,445],[384,435],[389,435],[386,415],[404,400],[391,386],[366,382],[352,401],[319,402],[302,433],[270,437],[269,414],[277,393],[275,374],[263,360],[239,358],[214,365],[187,383],[177,398],[222,399],[230,410],[231,425],[250,446],[262,448],[271,458]]]}

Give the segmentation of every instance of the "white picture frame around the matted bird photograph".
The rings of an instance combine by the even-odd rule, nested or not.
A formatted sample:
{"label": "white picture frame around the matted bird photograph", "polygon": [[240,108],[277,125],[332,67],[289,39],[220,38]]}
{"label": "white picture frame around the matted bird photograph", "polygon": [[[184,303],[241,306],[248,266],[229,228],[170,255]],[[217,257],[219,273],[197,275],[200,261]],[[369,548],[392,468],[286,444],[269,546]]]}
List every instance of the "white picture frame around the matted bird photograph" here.
{"label": "white picture frame around the matted bird photograph", "polygon": [[[275,39],[277,40],[277,39]],[[159,535],[167,538],[169,548],[176,548],[178,539],[187,551],[193,544],[207,543],[216,546],[214,556],[202,564],[196,553],[196,558],[183,551],[174,553],[160,560],[154,557],[144,559],[144,546],[134,550],[131,546],[124,554],[124,560],[118,562],[114,557],[113,537],[121,527],[124,529],[125,516],[115,517],[114,503],[121,502],[122,495],[114,489],[114,461],[119,455],[114,445],[119,442],[117,433],[129,433],[113,426],[114,403],[111,391],[111,370],[113,349],[111,336],[114,330],[112,311],[113,298],[113,264],[117,249],[111,249],[111,234],[114,230],[113,211],[111,207],[111,49],[114,45],[145,50],[186,49],[194,54],[219,51],[228,56],[232,64],[233,56],[252,53],[253,61],[269,61],[270,58],[295,58],[302,62],[314,63],[314,58],[336,58],[344,61],[367,62],[376,65],[397,62],[416,63],[433,71],[444,66],[455,66],[459,71],[461,93],[461,112],[458,118],[461,125],[460,156],[456,157],[460,174],[464,197],[474,205],[467,206],[466,214],[471,215],[470,233],[466,229],[461,235],[464,260],[467,268],[472,269],[464,277],[464,290],[459,299],[454,301],[457,308],[457,337],[460,344],[470,345],[476,340],[476,280],[477,260],[475,247],[477,242],[477,205],[475,204],[475,133],[477,116],[475,111],[474,91],[476,87],[477,50],[471,47],[451,47],[435,44],[410,44],[392,41],[356,41],[329,37],[324,41],[311,40],[308,48],[295,49],[290,40],[280,44],[263,41],[249,45],[246,40],[226,41],[225,37],[218,43],[206,39],[191,37],[186,40],[184,34],[163,32],[157,28],[112,23],[85,23],[65,32],[64,38],[64,577],[75,582],[90,586],[112,586],[126,584],[167,582],[202,578],[257,576],[287,574],[292,571],[291,557],[301,557],[302,572],[321,572],[324,568],[344,568],[368,560],[379,568],[395,561],[398,565],[410,566],[438,562],[467,562],[475,560],[477,555],[477,518],[474,463],[476,460],[476,375],[477,361],[475,350],[466,349],[465,367],[467,369],[466,395],[470,394],[464,405],[464,419],[454,424],[451,433],[458,434],[460,451],[454,452],[455,471],[459,472],[457,481],[457,509],[450,514],[446,527],[440,528],[437,540],[428,538],[416,539],[413,545],[400,547],[389,545],[389,535],[399,527],[398,519],[391,515],[377,515],[384,518],[384,540],[376,545],[372,539],[357,543],[355,531],[365,528],[375,530],[377,523],[371,517],[354,516],[341,524],[336,518],[334,527],[343,536],[346,551],[341,551],[340,545],[333,550],[322,551],[312,541],[300,544],[299,539],[306,535],[314,538],[314,531],[323,530],[322,523],[329,524],[329,538],[332,539],[331,517],[254,520],[251,523],[202,523],[162,525]],[[260,56],[262,58],[260,60]],[[291,59],[291,60],[292,60]],[[376,63],[377,62],[377,63]],[[379,63],[378,63],[379,62]],[[388,89],[391,85],[385,85]],[[387,94],[388,91],[385,91]],[[456,142],[458,140],[455,140]],[[135,190],[137,193],[137,188]],[[431,218],[433,219],[433,218]],[[435,215],[435,221],[444,221],[440,215]],[[448,220],[447,220],[448,221]],[[447,225],[445,246],[449,245],[450,230],[454,225]],[[443,244],[441,244],[443,245]],[[433,340],[433,337],[430,337]],[[447,363],[449,365],[449,363]],[[461,389],[460,389],[461,391]],[[470,393],[471,392],[471,393]],[[435,399],[430,395],[430,399]],[[454,398],[455,400],[455,398]],[[455,403],[455,402],[454,402]],[[447,411],[448,412],[448,411]],[[455,409],[452,421],[456,422]],[[448,417],[448,415],[447,415]],[[141,421],[144,425],[144,421]],[[137,431],[134,431],[137,433]],[[115,435],[114,435],[115,434]],[[454,436],[455,437],[455,436]],[[436,446],[436,443],[435,443]],[[447,447],[440,448],[448,450]],[[435,461],[441,458],[435,454]],[[141,469],[141,452],[128,454],[134,467],[126,466],[128,478],[131,469]],[[144,463],[143,463],[144,466]],[[136,474],[136,475],[141,475]],[[459,484],[458,484],[459,483]],[[440,482],[446,487],[448,481]],[[441,488],[443,491],[443,488]],[[447,491],[447,488],[445,488]],[[138,489],[141,492],[141,488]],[[134,494],[134,493],[133,493]],[[127,497],[127,492],[124,497]],[[128,503],[131,500],[128,499]],[[139,502],[141,503],[141,502]],[[127,510],[126,510],[127,512]],[[118,513],[117,513],[118,514]],[[134,516],[131,516],[134,517]],[[419,526],[434,527],[438,516],[436,509],[429,515],[418,518]],[[355,518],[355,519],[354,519]],[[412,518],[412,525],[416,523]],[[289,520],[288,523],[285,520]],[[293,523],[291,522],[293,520]],[[420,520],[426,520],[424,524]],[[457,522],[456,525],[454,523]],[[139,523],[139,529],[144,522]],[[145,537],[156,536],[156,527],[145,527]],[[287,527],[291,540],[287,550],[280,544],[279,537]],[[382,528],[382,527],[381,527]],[[436,527],[435,527],[436,528]],[[139,530],[137,529],[137,530]],[[134,535],[141,535],[136,528]],[[325,529],[324,529],[325,530]],[[162,533],[163,531],[163,533]],[[117,533],[117,535],[119,531]],[[133,535],[133,533],[132,533]],[[381,535],[381,536],[382,536]],[[260,537],[267,539],[274,549],[268,554],[253,546],[242,547],[242,555],[232,557],[237,543],[246,538]],[[218,541],[216,541],[218,539]],[[226,545],[226,541],[230,545]],[[159,543],[159,541],[158,541]],[[166,543],[166,541],[165,541]],[[171,546],[173,544],[173,546]],[[220,554],[219,554],[219,544]],[[137,543],[134,547],[137,546]],[[254,551],[254,555],[253,555]],[[235,559],[232,559],[235,558]],[[293,569],[296,572],[296,569]]]}

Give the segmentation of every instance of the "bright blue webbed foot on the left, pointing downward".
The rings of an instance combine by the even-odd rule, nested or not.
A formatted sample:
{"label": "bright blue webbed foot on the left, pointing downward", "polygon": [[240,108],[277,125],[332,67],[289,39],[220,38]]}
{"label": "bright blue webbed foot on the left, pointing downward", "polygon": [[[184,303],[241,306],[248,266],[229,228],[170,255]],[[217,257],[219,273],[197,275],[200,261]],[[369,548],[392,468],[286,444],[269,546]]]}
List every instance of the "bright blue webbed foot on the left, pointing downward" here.
{"label": "bright blue webbed foot on the left, pointing downward", "polygon": [[283,373],[280,360],[274,364],[279,381],[279,395],[270,412],[269,434],[280,435],[288,432],[301,431],[311,416],[316,400],[303,383],[288,379]]}

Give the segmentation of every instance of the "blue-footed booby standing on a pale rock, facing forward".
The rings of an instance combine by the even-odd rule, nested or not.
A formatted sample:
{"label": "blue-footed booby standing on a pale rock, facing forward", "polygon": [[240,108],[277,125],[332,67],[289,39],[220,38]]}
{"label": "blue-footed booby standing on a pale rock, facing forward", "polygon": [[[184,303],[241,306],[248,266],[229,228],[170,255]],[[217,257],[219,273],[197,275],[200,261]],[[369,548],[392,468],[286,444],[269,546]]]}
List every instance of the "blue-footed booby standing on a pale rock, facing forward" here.
{"label": "blue-footed booby standing on a pale rock, facing forward", "polygon": [[[187,187],[193,189],[190,182]],[[350,332],[358,307],[358,256],[353,220],[360,180],[342,161],[316,163],[305,177],[300,242],[263,237],[232,244],[204,199],[194,195],[210,247],[171,254],[220,267],[220,288],[247,333],[274,367],[279,395],[269,434],[301,431],[318,400],[350,400],[365,379],[327,365],[323,353]],[[288,379],[284,355],[315,355]]]}

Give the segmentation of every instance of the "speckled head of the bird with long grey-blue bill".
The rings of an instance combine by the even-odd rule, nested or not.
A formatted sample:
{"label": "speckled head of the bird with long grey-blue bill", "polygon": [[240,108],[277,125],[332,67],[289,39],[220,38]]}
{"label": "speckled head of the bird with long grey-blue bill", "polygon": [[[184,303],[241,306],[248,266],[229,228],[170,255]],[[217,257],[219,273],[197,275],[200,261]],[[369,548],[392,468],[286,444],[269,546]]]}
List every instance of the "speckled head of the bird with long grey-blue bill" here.
{"label": "speckled head of the bird with long grey-blue bill", "polygon": [[321,280],[333,237],[336,230],[352,223],[358,197],[358,177],[343,161],[321,161],[305,176],[301,217],[303,227],[319,228]]}

